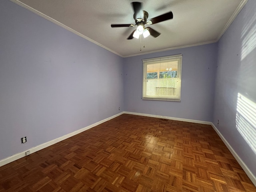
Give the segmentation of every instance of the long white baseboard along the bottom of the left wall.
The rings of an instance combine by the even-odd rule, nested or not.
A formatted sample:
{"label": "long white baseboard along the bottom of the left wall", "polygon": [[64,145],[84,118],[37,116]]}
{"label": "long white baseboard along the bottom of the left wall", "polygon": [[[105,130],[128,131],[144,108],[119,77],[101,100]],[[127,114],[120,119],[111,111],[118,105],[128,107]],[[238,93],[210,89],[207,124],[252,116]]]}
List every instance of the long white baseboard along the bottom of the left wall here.
{"label": "long white baseboard along the bottom of the left wall", "polygon": [[41,149],[44,149],[44,148],[46,148],[46,147],[48,147],[48,146],[51,146],[51,145],[53,145],[53,144],[56,144],[56,143],[58,143],[58,142],[60,142],[60,141],[62,141],[62,140],[65,140],[65,139],[67,139],[67,138],[70,138],[70,137],[72,137],[72,136],[74,136],[74,135],[76,135],[76,134],[79,134],[79,133],[81,133],[81,132],[83,132],[83,131],[86,131],[86,130],[88,130],[88,129],[90,129],[90,128],[93,128],[93,127],[95,127],[95,126],[97,126],[97,125],[99,125],[99,124],[102,124],[102,123],[104,123],[104,122],[106,122],[106,121],[108,121],[108,120],[110,120],[110,119],[116,118],[117,116],[120,116],[120,115],[122,115],[122,114],[124,114],[124,112],[118,113],[118,114],[113,115],[113,116],[111,116],[111,117],[109,117],[109,118],[106,118],[106,119],[104,119],[104,120],[101,120],[101,121],[99,121],[99,122],[96,122],[96,123],[94,123],[94,124],[92,124],[92,125],[86,126],[86,127],[82,128],[82,129],[80,129],[80,130],[76,130],[76,131],[74,131],[74,132],[72,132],[72,133],[66,134],[66,135],[64,135],[64,136],[61,136],[61,137],[56,138],[56,139],[54,139],[54,140],[51,140],[51,141],[49,141],[49,142],[40,144],[40,145],[38,145],[38,146],[36,146],[36,147],[32,147],[32,148],[30,148],[30,149],[28,149],[28,150],[26,150],[26,151],[23,151],[23,152],[14,154],[14,155],[12,155],[12,156],[10,156],[10,157],[4,158],[4,159],[0,160],[0,166],[6,165],[6,164],[8,164],[8,163],[10,163],[10,162],[13,162],[13,161],[15,161],[15,160],[18,160],[18,159],[20,159],[20,158],[26,156],[26,152],[27,152],[27,151],[30,151],[30,154],[32,154],[32,153],[37,152],[37,151],[39,151],[39,150],[41,150]]}

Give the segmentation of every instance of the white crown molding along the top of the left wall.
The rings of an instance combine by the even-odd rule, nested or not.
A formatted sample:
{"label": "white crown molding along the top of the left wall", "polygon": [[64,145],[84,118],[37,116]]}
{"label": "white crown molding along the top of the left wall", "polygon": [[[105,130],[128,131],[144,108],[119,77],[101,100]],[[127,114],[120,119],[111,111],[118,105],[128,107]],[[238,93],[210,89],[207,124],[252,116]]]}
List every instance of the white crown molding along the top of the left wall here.
{"label": "white crown molding along the top of the left wall", "polygon": [[55,19],[53,19],[53,18],[51,18],[51,17],[49,17],[49,16],[47,16],[47,15],[45,15],[45,14],[43,14],[43,13],[41,13],[40,11],[35,10],[34,8],[32,8],[32,7],[28,6],[28,5],[26,5],[26,4],[22,3],[22,2],[20,2],[19,0],[10,0],[10,1],[11,1],[11,2],[14,2],[15,4],[17,4],[17,5],[19,5],[19,6],[23,7],[23,8],[25,8],[26,10],[29,10],[29,11],[31,11],[31,12],[33,12],[33,13],[35,13],[35,14],[41,16],[42,18],[45,18],[46,20],[48,20],[48,21],[50,21],[50,22],[52,22],[52,23],[54,23],[54,24],[56,24],[56,25],[58,25],[58,26],[60,26],[60,27],[62,27],[62,28],[64,28],[64,29],[66,29],[66,30],[68,30],[68,31],[70,31],[70,32],[72,32],[72,33],[74,33],[74,34],[76,34],[76,35],[78,35],[78,36],[80,36],[80,37],[82,37],[82,38],[84,38],[84,39],[86,39],[86,40],[88,40],[88,41],[90,41],[90,42],[92,42],[92,43],[94,43],[94,44],[96,44],[96,45],[98,45],[98,46],[100,46],[100,47],[102,47],[102,48],[104,48],[104,49],[106,49],[106,50],[108,50],[108,51],[110,51],[110,52],[116,54],[116,55],[118,55],[118,56],[120,56],[120,57],[123,57],[123,56],[122,56],[121,54],[119,54],[118,52],[115,52],[115,51],[113,51],[112,49],[107,48],[106,46],[104,46],[104,45],[102,45],[102,44],[100,44],[100,43],[98,43],[98,42],[96,42],[96,41],[94,41],[94,40],[92,40],[92,39],[90,39],[90,38],[84,36],[83,34],[77,32],[76,30],[73,30],[72,28],[70,28],[70,27],[68,27],[68,26],[66,26],[66,25],[64,25],[64,24],[62,24],[62,23],[60,23],[60,22],[58,22],[57,20],[55,20]]}

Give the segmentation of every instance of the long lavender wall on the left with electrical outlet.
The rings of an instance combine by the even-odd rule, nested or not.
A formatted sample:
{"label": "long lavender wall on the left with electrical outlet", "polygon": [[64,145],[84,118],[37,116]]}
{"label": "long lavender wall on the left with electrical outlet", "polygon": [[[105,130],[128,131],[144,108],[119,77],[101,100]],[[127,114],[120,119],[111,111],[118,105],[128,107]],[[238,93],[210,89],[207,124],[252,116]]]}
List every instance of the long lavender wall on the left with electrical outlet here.
{"label": "long lavender wall on the left with electrical outlet", "polygon": [[123,109],[123,58],[8,0],[0,28],[0,160]]}

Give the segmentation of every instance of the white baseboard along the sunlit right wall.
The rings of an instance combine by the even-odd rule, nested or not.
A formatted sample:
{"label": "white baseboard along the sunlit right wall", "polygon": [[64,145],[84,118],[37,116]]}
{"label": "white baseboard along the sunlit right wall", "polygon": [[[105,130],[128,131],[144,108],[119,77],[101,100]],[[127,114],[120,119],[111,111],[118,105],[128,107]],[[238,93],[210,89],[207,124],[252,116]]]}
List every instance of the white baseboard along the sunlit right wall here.
{"label": "white baseboard along the sunlit right wall", "polygon": [[238,156],[238,154],[235,152],[235,150],[232,148],[232,146],[228,143],[228,141],[224,138],[224,136],[220,133],[220,131],[216,128],[216,126],[212,123],[211,124],[216,133],[220,136],[221,140],[224,142],[224,144],[227,146],[227,148],[230,150],[234,158],[236,158],[237,162],[240,164],[240,166],[243,168],[244,172],[246,172],[247,176],[250,178],[252,183],[256,186],[256,177],[250,169],[246,166],[244,161]]}

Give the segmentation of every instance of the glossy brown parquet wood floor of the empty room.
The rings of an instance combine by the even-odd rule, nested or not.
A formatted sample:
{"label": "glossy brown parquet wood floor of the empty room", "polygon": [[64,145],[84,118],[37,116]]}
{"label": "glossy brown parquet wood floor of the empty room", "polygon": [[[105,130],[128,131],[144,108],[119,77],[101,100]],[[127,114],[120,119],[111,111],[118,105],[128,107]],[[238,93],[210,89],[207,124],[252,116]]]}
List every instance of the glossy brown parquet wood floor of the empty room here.
{"label": "glossy brown parquet wood floor of the empty room", "polygon": [[0,192],[256,192],[209,125],[123,114],[0,167]]}

